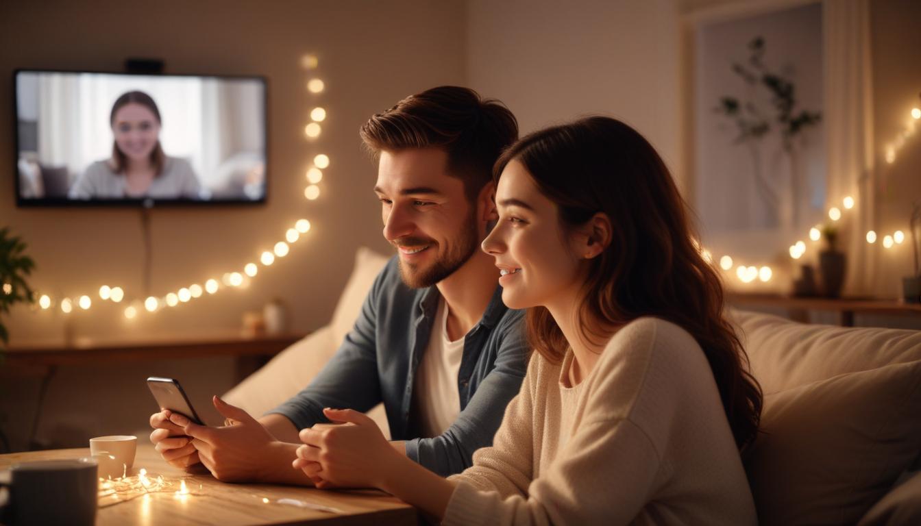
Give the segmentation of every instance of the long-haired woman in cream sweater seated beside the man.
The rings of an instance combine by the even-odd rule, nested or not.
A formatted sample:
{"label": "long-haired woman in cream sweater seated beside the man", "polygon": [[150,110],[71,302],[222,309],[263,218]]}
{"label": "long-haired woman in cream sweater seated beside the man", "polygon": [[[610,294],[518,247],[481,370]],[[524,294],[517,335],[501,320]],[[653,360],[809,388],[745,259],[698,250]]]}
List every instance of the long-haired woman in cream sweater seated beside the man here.
{"label": "long-haired woman in cream sweater seated beside the man", "polygon": [[294,466],[445,523],[755,523],[739,451],[761,392],[659,155],[591,117],[521,139],[500,173],[483,249],[537,355],[493,446],[445,480],[367,416],[326,410],[352,425],[301,431]]}

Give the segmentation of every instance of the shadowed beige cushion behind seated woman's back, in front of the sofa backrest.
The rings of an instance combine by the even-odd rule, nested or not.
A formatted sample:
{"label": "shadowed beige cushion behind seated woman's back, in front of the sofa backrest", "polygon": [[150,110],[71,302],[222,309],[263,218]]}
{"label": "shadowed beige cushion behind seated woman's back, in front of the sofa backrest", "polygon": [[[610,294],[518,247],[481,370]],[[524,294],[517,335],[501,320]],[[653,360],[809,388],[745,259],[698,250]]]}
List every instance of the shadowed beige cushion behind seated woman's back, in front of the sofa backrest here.
{"label": "shadowed beige cushion behind seated woman's back, in front of the sofa backrest", "polygon": [[853,524],[921,449],[921,361],[764,397],[746,453],[762,524]]}

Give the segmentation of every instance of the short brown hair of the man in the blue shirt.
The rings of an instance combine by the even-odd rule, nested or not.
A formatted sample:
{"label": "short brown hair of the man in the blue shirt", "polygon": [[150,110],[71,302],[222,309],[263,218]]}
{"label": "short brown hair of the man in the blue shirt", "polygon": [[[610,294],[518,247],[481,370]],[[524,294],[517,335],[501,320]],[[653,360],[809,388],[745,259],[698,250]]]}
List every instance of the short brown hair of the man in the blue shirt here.
{"label": "short brown hair of the man in the blue shirt", "polygon": [[444,148],[449,174],[464,182],[467,198],[473,200],[492,181],[495,160],[518,140],[518,121],[499,100],[482,99],[470,88],[441,86],[374,115],[359,134],[375,156],[406,148]]}

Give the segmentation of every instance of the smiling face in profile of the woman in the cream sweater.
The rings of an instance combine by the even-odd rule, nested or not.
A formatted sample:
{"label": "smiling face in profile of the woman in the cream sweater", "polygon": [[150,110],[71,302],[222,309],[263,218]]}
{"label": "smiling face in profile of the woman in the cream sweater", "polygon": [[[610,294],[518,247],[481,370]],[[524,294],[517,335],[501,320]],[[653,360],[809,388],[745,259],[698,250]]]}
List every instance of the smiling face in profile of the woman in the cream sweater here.
{"label": "smiling face in profile of the woman in the cream sweater", "polygon": [[583,277],[573,235],[559,209],[537,188],[518,160],[502,171],[495,189],[499,221],[483,241],[502,274],[502,300],[511,309],[548,307],[577,299]]}

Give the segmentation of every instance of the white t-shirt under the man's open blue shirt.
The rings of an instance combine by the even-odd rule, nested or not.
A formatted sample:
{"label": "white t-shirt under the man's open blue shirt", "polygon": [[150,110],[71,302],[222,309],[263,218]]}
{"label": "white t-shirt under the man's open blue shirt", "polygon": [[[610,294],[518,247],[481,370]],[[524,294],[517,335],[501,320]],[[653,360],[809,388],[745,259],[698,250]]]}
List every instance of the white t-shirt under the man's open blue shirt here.
{"label": "white t-shirt under the man's open blue shirt", "polygon": [[440,299],[426,354],[416,371],[414,397],[422,438],[441,435],[461,414],[458,373],[463,340],[448,339],[448,307]]}

